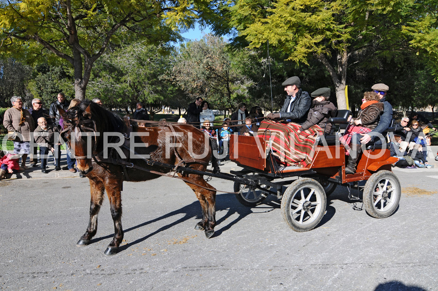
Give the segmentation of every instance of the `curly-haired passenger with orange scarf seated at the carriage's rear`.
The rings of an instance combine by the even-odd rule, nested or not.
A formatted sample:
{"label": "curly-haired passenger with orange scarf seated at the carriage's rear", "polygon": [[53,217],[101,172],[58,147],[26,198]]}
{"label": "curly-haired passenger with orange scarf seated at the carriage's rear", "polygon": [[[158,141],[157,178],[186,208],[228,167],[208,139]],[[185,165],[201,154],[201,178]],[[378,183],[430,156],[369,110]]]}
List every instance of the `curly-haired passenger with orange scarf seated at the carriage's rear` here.
{"label": "curly-haired passenger with orange scarf seated at the carriage's rear", "polygon": [[374,91],[364,93],[362,99],[361,109],[357,118],[351,119],[350,125],[340,138],[341,144],[345,145],[346,155],[348,156],[348,163],[345,167],[346,174],[354,174],[356,172],[356,163],[361,153],[361,145],[354,144],[354,155],[350,155],[351,138],[354,134],[368,133],[377,127],[379,123],[378,117],[383,112],[383,103],[379,102],[379,95]]}

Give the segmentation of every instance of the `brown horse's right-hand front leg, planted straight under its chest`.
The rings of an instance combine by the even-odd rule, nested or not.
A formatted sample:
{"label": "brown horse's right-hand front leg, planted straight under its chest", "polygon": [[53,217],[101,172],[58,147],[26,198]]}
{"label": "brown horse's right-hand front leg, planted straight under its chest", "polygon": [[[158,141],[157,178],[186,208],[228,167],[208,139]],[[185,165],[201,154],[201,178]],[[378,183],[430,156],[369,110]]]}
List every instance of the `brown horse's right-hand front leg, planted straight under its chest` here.
{"label": "brown horse's right-hand front leg, planted straight under its chest", "polygon": [[111,217],[114,222],[114,238],[105,250],[105,255],[115,255],[119,251],[119,245],[123,240],[122,228],[122,180],[110,180],[106,183],[108,199],[110,200]]}

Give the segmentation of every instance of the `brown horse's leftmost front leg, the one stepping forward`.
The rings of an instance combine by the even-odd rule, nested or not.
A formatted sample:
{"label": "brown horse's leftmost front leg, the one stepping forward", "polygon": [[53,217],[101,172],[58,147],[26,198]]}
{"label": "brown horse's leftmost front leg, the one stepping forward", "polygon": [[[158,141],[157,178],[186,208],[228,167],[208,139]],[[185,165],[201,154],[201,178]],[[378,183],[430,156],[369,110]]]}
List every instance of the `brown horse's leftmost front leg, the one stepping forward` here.
{"label": "brown horse's leftmost front leg, the one stepping forward", "polygon": [[90,244],[91,238],[97,232],[97,215],[99,214],[100,206],[102,205],[104,190],[105,187],[102,182],[93,181],[90,179],[90,222],[88,224],[87,231],[76,243],[78,247]]}

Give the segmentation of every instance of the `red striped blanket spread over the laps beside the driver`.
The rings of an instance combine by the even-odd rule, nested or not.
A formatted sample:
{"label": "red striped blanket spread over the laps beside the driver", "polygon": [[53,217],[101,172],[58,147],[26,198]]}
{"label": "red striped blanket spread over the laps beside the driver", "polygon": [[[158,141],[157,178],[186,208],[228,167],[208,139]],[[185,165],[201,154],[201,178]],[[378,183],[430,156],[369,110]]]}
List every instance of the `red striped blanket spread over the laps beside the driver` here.
{"label": "red striped blanket spread over the laps beside the driver", "polygon": [[281,164],[307,166],[313,159],[316,137],[324,130],[315,125],[300,133],[300,127],[292,122],[283,124],[264,120],[260,123],[257,136],[271,141],[273,154]]}

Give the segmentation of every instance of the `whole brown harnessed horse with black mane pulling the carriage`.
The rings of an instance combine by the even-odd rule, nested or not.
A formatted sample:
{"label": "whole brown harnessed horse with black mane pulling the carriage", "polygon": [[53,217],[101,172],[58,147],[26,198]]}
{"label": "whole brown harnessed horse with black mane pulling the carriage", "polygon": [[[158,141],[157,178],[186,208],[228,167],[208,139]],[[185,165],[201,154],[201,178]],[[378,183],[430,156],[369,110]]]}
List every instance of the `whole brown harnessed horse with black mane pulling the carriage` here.
{"label": "whole brown harnessed horse with black mane pulling the carriage", "polygon": [[[160,173],[170,172],[171,169],[166,165],[205,171],[211,159],[213,165],[217,166],[208,138],[204,142],[204,133],[193,126],[130,126],[128,120],[124,121],[89,101],[82,102],[68,112],[60,109],[60,113],[64,117],[63,138],[76,157],[78,170],[90,179],[90,223],[77,246],[90,244],[96,234],[97,215],[104,192],[107,192],[115,234],[105,255],[118,252],[123,239],[123,181],[140,182],[159,178]],[[122,134],[130,136],[130,139]],[[202,220],[195,229],[204,230],[205,236],[210,238],[214,235],[216,225],[215,189],[199,173],[177,174],[192,188],[201,203]]]}

